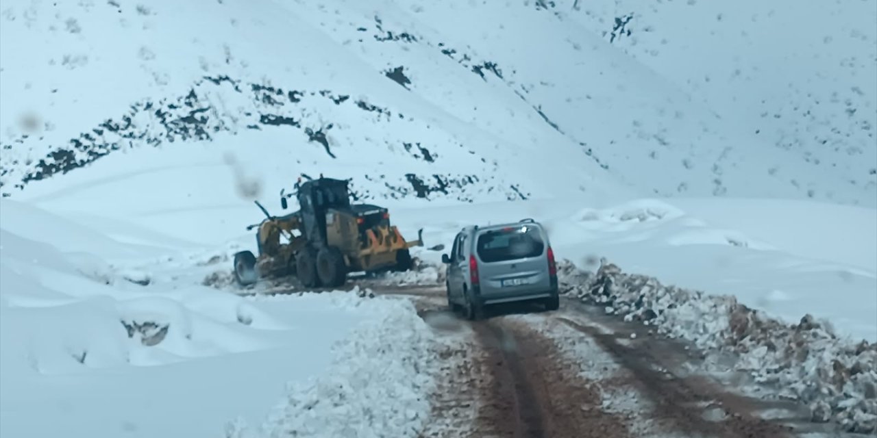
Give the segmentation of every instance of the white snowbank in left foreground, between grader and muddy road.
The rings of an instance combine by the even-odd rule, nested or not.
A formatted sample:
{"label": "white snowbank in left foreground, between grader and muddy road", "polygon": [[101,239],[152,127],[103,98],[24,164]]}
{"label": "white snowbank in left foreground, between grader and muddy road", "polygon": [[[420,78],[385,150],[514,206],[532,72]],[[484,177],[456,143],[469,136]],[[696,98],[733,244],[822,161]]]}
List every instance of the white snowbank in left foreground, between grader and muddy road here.
{"label": "white snowbank in left foreground, between grader and muddy road", "polygon": [[[352,363],[347,389],[390,400],[354,420],[379,418],[373,427],[396,432],[429,413],[417,401],[429,373],[411,371],[398,350],[375,354],[409,346],[421,361],[413,366],[426,369],[426,340],[410,342],[428,334],[403,302],[340,292],[247,300],[200,284],[223,251],[164,248],[157,258],[154,247],[16,201],[0,201],[0,211],[0,435],[221,436],[229,420],[265,421],[277,400],[345,394],[334,384]],[[395,376],[381,380],[385,370]],[[289,412],[275,420],[277,434],[319,427]],[[321,412],[311,413],[328,420],[334,411]]]}

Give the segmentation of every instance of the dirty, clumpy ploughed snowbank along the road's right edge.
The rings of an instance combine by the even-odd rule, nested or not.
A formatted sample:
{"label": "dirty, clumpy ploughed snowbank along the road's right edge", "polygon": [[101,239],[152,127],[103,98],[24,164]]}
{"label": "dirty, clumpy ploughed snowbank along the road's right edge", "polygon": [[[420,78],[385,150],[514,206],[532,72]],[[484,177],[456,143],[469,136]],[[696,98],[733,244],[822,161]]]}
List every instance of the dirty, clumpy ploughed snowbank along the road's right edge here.
{"label": "dirty, clumpy ploughed snowbank along the road's right edge", "polygon": [[702,350],[737,353],[738,370],[780,388],[782,397],[810,404],[816,421],[831,419],[851,432],[877,430],[877,344],[838,336],[830,323],[809,314],[784,324],[732,296],[664,286],[617,265],[602,263],[591,275],[564,260],[559,272],[564,293],[602,305],[608,314]]}

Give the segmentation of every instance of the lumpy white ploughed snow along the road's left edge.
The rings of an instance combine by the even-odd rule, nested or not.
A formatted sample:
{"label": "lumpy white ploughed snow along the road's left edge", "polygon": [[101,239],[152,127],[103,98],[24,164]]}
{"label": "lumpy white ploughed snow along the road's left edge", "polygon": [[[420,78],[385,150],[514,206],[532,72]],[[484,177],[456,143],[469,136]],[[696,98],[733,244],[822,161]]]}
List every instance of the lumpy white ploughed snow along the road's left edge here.
{"label": "lumpy white ploughed snow along the road's left edge", "polygon": [[417,436],[430,420],[435,339],[410,300],[379,297],[362,306],[380,316],[336,345],[322,378],[290,385],[260,429],[237,420],[226,436]]}

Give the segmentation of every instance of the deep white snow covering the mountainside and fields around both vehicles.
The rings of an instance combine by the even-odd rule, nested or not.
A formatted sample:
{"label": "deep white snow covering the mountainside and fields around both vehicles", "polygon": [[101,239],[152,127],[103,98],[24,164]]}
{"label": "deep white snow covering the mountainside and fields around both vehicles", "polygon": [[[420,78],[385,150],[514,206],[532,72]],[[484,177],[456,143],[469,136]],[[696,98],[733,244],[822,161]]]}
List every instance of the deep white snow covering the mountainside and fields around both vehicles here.
{"label": "deep white snow covering the mountainside and fields around both vehicles", "polygon": [[583,267],[877,340],[877,11],[838,4],[0,0],[3,433],[253,432],[278,399],[280,432],[308,378],[365,385],[338,361],[422,335],[399,304],[202,284],[299,175],[427,246],[534,217]]}

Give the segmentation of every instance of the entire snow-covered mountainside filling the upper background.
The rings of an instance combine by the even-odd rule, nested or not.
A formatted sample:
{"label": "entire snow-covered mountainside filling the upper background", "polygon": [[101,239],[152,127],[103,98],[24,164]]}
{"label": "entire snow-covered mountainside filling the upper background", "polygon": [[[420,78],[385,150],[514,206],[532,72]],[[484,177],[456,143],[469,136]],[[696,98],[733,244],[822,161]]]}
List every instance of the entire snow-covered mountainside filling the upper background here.
{"label": "entire snow-covered mountainside filling the upper background", "polygon": [[[325,173],[374,199],[428,186],[418,201],[877,205],[873,2],[3,0],[0,11],[2,191],[22,199],[51,202],[57,187],[40,178],[68,172],[69,208],[127,194],[115,214],[139,220],[162,201],[153,214],[168,228],[189,208],[231,224],[246,201],[230,175],[242,197],[265,200]],[[628,15],[631,34],[607,36]],[[91,161],[102,170],[85,176]],[[132,191],[150,177],[165,184]]]}

